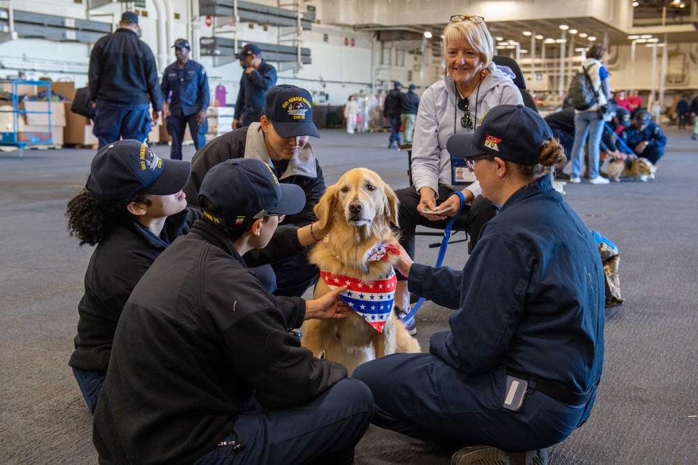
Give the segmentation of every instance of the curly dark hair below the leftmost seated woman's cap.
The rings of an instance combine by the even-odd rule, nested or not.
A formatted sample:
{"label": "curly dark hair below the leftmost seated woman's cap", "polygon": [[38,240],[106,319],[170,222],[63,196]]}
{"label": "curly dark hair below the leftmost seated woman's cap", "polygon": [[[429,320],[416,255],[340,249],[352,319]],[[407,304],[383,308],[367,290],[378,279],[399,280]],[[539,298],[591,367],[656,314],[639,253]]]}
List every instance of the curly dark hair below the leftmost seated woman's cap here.
{"label": "curly dark hair below the leftmost seated woman's cap", "polygon": [[152,205],[144,194],[136,193],[128,199],[101,200],[83,188],[68,201],[66,216],[70,237],[77,237],[80,247],[85,244],[97,245],[118,224],[133,221],[133,215],[126,210],[131,202]]}

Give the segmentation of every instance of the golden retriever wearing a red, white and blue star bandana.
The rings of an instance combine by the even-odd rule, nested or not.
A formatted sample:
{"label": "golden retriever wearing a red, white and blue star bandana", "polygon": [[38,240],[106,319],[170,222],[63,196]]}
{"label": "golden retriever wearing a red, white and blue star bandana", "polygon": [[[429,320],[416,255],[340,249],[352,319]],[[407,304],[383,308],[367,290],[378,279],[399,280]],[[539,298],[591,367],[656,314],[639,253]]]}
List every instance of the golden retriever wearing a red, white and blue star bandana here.
{"label": "golden retriever wearing a red, white and blue star bandana", "polygon": [[[308,320],[302,345],[343,364],[351,375],[360,364],[396,352],[419,352],[419,343],[392,311],[393,264],[399,250],[397,197],[378,174],[356,168],[327,188],[318,205],[320,226],[329,228],[309,260],[320,268],[315,298],[349,283],[342,299],[355,312],[346,319]],[[371,350],[372,349],[372,350]]]}

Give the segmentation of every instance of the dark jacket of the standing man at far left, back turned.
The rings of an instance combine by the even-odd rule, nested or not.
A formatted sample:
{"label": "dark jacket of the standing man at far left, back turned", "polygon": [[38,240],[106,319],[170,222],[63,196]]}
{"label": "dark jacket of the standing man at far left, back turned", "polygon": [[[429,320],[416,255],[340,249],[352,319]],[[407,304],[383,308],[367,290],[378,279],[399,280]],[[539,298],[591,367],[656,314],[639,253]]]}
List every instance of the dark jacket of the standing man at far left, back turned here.
{"label": "dark jacket of the standing man at far left, back turned", "polygon": [[89,59],[90,100],[123,105],[163,106],[158,68],[150,47],[131,29],[117,29],[97,40]]}

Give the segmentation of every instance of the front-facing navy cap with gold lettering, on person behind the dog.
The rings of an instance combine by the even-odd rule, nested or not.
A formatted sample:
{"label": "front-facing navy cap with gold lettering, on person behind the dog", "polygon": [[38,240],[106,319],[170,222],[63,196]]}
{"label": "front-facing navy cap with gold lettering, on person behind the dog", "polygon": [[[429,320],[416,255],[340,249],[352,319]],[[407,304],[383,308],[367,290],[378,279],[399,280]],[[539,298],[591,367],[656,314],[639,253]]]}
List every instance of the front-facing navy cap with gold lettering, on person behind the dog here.
{"label": "front-facing navy cap with gold lettering, on person behind the dog", "polygon": [[290,84],[279,84],[267,91],[264,115],[281,137],[320,137],[313,123],[313,98],[309,91]]}

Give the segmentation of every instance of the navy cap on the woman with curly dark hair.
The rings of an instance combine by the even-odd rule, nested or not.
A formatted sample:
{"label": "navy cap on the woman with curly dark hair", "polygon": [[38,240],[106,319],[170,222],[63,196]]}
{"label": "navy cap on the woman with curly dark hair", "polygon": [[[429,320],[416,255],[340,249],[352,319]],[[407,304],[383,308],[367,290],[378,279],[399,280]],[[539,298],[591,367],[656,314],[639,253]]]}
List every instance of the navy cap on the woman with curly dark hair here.
{"label": "navy cap on the woman with curly dark hair", "polygon": [[127,199],[132,195],[172,195],[184,189],[191,164],[158,157],[149,146],[124,139],[103,146],[90,166],[87,188],[98,199]]}

